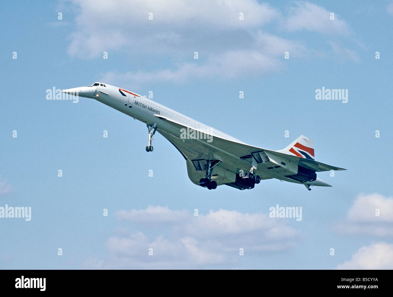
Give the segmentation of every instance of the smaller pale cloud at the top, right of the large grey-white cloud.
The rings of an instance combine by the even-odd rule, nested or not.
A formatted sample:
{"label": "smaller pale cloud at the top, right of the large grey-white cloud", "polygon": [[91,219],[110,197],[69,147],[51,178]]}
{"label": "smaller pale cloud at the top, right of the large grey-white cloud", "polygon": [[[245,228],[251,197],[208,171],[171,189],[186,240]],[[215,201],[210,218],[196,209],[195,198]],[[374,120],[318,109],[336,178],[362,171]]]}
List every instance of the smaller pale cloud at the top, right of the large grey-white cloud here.
{"label": "smaller pale cloud at the top, right of the large grey-white cloud", "polygon": [[298,1],[296,6],[288,11],[286,29],[288,31],[298,31],[305,29],[329,35],[349,35],[348,25],[334,15],[334,20],[330,19],[327,9],[309,2]]}

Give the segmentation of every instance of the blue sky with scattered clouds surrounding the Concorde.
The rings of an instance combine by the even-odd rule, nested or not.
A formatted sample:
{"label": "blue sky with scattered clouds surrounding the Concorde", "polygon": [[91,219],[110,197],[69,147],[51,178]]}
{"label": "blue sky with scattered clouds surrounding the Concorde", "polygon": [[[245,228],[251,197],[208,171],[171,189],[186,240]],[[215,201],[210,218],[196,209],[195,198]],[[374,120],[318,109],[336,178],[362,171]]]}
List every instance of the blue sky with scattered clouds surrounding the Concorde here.
{"label": "blue sky with scattered clouds surrounding the Concorde", "polygon": [[[393,2],[1,6],[0,207],[31,207],[31,220],[0,218],[0,268],[393,267]],[[348,170],[318,173],[333,187],[312,191],[279,180],[208,191],[161,135],[145,152],[143,123],[92,99],[46,100],[95,81],[152,91],[250,145],[303,134],[318,161]],[[348,102],[316,100],[323,86],[348,89]],[[302,220],[270,218],[276,204],[302,207]]]}

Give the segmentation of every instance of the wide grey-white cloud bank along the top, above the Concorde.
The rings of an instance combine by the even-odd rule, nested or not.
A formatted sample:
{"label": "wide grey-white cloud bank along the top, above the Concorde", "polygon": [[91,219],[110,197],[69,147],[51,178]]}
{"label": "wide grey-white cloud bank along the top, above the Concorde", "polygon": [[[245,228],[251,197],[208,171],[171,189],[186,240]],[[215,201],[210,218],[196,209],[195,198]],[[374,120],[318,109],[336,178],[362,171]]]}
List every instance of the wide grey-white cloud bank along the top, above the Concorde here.
{"label": "wide grey-white cloud bank along the top, above the Concorde", "polygon": [[[330,20],[329,11],[309,2],[296,2],[288,15],[256,0],[156,2],[74,0],[76,30],[68,36],[68,54],[81,59],[121,55],[135,70],[109,71],[102,81],[119,84],[184,83],[187,79],[252,77],[285,67],[290,57],[319,55],[304,42],[267,33],[265,24],[289,31],[307,29],[349,35],[347,24]],[[149,13],[153,20],[149,20]],[[244,13],[244,20],[239,20]],[[286,30],[281,31],[286,31]],[[193,59],[198,51],[200,57]],[[356,52],[332,44],[343,59],[358,61]],[[141,62],[141,63],[140,63]],[[152,70],[147,70],[147,68]]]}

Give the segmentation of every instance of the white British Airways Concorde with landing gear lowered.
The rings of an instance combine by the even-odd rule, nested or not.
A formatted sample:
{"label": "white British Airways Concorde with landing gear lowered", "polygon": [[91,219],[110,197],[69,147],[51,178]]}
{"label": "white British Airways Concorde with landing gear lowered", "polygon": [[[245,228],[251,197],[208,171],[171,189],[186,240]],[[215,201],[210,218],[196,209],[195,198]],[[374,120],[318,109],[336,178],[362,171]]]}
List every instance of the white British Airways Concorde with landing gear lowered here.
{"label": "white British Airways Concorde with landing gear lowered", "polygon": [[152,136],[158,131],[182,154],[190,180],[209,190],[228,185],[253,189],[261,180],[276,178],[310,186],[331,187],[316,172],[346,170],[315,161],[314,141],[299,136],[283,150],[253,147],[191,117],[180,114],[145,96],[104,83],[62,90],[93,98],[145,123],[149,133],[147,152],[153,151]]}

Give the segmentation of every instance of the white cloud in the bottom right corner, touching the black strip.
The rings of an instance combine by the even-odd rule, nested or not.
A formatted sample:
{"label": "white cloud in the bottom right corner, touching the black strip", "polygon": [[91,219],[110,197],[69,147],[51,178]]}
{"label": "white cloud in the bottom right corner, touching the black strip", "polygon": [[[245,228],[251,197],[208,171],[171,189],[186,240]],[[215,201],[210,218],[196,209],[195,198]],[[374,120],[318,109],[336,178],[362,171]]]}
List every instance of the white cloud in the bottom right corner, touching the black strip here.
{"label": "white cloud in the bottom right corner, touching the black strip", "polygon": [[384,242],[360,248],[352,255],[351,260],[340,264],[336,269],[392,269],[393,244]]}

